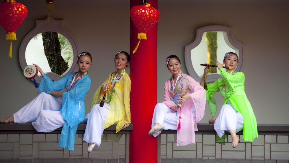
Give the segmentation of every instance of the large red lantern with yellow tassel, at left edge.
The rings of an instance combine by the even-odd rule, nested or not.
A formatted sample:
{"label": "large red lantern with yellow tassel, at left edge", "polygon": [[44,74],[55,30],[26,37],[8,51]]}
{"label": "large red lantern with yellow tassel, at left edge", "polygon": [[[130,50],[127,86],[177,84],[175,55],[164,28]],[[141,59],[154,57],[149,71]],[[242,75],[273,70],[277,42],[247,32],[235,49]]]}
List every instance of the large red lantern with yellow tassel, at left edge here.
{"label": "large red lantern with yellow tassel, at left edge", "polygon": [[16,40],[16,29],[25,20],[28,10],[25,5],[14,0],[0,3],[0,24],[6,30],[6,40],[10,40],[9,57],[12,58],[12,41]]}

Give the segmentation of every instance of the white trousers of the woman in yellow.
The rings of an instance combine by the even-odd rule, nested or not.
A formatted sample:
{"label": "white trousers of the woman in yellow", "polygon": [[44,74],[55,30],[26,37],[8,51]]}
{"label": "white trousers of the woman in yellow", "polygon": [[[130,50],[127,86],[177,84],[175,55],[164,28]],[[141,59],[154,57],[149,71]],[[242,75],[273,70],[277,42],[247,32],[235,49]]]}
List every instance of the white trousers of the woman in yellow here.
{"label": "white trousers of the woman in yellow", "polygon": [[103,107],[96,104],[92,107],[90,113],[84,118],[86,128],[83,136],[83,140],[88,144],[96,144],[97,147],[101,144],[101,136],[104,130],[104,123],[108,116],[109,104],[104,103]]}

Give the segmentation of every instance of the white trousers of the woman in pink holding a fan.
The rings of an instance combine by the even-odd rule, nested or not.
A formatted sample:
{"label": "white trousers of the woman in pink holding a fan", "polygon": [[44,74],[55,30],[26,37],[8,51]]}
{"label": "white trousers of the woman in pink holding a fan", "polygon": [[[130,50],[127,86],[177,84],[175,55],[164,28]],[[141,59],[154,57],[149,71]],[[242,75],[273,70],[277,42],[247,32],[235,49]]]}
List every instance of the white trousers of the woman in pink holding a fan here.
{"label": "white trousers of the woman in pink holding a fan", "polygon": [[[153,111],[153,119],[151,122],[151,128],[155,123],[160,123],[164,130],[177,130],[177,112],[172,112],[164,103],[157,103],[155,110]],[[193,118],[195,119],[196,113],[193,109]],[[154,137],[158,136],[161,131],[153,134]]]}

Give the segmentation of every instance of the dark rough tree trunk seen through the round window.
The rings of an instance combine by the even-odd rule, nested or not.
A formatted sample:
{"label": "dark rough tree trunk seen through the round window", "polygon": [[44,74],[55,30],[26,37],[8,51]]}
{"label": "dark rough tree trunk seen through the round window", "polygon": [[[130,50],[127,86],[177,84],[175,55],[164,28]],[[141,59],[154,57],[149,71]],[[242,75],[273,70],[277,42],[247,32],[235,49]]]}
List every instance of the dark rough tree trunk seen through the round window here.
{"label": "dark rough tree trunk seen through the round window", "polygon": [[44,53],[51,72],[62,75],[68,69],[68,64],[61,56],[61,45],[58,39],[58,33],[43,32],[42,41]]}

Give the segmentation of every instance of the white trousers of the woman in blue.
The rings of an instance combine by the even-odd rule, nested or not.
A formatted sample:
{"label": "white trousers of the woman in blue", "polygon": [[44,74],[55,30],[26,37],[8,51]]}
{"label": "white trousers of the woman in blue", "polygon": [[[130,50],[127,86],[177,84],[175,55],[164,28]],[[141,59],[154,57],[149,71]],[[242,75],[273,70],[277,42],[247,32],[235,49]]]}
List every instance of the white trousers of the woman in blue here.
{"label": "white trousers of the woman in blue", "polygon": [[51,132],[64,125],[61,111],[62,101],[41,92],[27,105],[13,114],[14,123],[32,123],[38,132]]}

